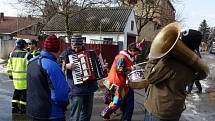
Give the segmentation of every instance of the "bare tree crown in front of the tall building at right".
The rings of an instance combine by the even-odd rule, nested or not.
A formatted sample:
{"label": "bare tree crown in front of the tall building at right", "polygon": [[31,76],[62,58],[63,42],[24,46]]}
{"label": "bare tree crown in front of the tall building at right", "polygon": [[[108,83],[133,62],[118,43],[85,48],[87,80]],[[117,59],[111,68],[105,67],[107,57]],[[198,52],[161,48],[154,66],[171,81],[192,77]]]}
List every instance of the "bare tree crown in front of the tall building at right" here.
{"label": "bare tree crown in front of the tall building at right", "polygon": [[[170,2],[170,5],[172,5],[171,3],[176,5],[182,3],[183,0],[118,0],[118,3],[120,6],[129,6],[135,8],[138,33],[140,33],[142,28],[150,21],[158,22],[158,27],[160,27],[176,20],[176,15],[171,15],[175,14],[175,9],[173,6],[171,6],[172,13],[170,13],[170,15],[165,13],[165,11],[169,11],[169,8],[163,6],[162,2],[164,1]],[[181,15],[177,14],[177,17],[180,18]],[[159,21],[165,22],[159,23]]]}

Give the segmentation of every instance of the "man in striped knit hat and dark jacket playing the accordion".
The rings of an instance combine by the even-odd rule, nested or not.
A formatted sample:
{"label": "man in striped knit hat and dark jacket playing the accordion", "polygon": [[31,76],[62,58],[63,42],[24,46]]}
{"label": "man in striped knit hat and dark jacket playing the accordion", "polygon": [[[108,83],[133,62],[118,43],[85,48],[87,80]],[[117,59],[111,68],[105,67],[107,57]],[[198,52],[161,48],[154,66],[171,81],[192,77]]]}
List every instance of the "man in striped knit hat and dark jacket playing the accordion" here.
{"label": "man in striped knit hat and dark jacket playing the accordion", "polygon": [[72,71],[77,66],[70,63],[69,55],[78,54],[87,49],[83,45],[84,38],[81,35],[73,35],[71,38],[71,48],[67,48],[61,54],[65,62],[66,77],[70,86],[69,93],[69,121],[90,121],[93,109],[94,92],[98,89],[97,80],[86,81],[82,84],[75,84]]}

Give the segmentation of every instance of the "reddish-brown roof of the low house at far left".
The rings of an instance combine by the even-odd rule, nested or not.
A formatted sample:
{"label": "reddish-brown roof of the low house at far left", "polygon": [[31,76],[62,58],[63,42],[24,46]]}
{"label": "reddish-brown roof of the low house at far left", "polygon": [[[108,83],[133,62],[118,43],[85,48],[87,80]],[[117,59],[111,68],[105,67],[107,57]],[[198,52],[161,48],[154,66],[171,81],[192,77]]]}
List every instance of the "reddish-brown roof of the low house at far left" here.
{"label": "reddish-brown roof of the low house at far left", "polygon": [[13,37],[36,36],[40,31],[40,19],[32,16],[11,17],[0,13],[0,39],[10,40]]}

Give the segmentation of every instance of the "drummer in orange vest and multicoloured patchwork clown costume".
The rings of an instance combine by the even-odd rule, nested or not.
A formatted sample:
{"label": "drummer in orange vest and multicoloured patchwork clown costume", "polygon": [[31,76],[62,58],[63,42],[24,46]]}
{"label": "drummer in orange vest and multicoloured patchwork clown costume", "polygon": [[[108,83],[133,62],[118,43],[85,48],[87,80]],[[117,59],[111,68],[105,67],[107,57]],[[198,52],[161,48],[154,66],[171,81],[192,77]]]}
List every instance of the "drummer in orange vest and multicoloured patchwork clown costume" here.
{"label": "drummer in orange vest and multicoloured patchwork clown costume", "polygon": [[107,81],[112,83],[113,100],[101,112],[101,116],[108,120],[110,115],[120,108],[123,112],[121,120],[131,121],[134,110],[134,91],[126,83],[127,74],[132,71],[134,57],[140,49],[136,43],[131,43],[128,50],[122,50],[116,55],[111,66]]}

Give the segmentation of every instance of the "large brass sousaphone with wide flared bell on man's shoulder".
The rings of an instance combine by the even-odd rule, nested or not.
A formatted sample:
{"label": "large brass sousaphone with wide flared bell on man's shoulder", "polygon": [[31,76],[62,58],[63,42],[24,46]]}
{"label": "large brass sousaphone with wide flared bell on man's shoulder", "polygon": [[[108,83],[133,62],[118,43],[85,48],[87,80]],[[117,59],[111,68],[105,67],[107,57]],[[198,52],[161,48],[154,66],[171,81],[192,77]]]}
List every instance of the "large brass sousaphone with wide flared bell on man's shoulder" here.
{"label": "large brass sousaphone with wide flared bell on man's shoulder", "polygon": [[193,68],[198,73],[198,79],[206,78],[209,74],[207,64],[181,41],[180,31],[181,27],[177,22],[165,26],[152,42],[149,59],[159,59],[171,53]]}

